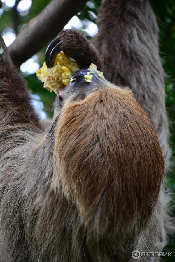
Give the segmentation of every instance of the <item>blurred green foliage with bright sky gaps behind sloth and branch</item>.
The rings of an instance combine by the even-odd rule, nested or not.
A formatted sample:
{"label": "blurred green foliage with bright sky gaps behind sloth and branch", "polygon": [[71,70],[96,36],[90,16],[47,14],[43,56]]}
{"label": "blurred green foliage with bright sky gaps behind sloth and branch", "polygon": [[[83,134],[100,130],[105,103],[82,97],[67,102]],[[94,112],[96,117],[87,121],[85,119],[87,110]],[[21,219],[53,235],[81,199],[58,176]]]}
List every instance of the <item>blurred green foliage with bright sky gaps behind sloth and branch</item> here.
{"label": "blurred green foliage with bright sky gaps behind sloth and branch", "polygon": [[[110,1],[110,0],[109,0]],[[9,46],[16,38],[17,33],[35,17],[50,1],[49,0],[2,0],[0,9],[0,30],[3,39]],[[88,1],[83,10],[74,16],[64,28],[83,30],[87,36],[92,37],[97,32],[95,24],[101,0]],[[154,12],[160,29],[160,55],[166,72],[165,91],[167,94],[166,106],[170,119],[171,149],[175,157],[175,1],[152,0]],[[46,21],[47,22],[47,21]],[[59,32],[58,32],[59,33]],[[24,39],[25,41],[25,39]],[[28,86],[33,93],[33,105],[40,117],[53,116],[54,93],[48,93],[43,84],[36,77],[36,70],[44,62],[46,46],[36,55],[23,63],[20,67]],[[172,161],[171,170],[167,174],[166,187],[172,192],[172,205],[175,201],[175,164]],[[175,217],[175,211],[173,211]],[[172,257],[163,261],[175,261],[175,238],[171,237],[166,252],[172,252]]]}

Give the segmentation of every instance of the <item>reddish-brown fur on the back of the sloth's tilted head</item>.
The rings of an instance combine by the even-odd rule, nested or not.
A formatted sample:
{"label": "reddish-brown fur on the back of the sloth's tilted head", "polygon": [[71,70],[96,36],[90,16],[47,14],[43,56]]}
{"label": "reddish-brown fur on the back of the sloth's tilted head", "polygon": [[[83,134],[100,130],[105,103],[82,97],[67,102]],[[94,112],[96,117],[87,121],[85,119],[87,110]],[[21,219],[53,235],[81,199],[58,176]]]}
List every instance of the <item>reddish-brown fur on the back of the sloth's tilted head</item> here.
{"label": "reddish-brown fur on the back of the sloth's tilted head", "polygon": [[96,217],[92,231],[110,234],[114,223],[150,218],[164,164],[153,127],[129,90],[104,86],[66,104],[54,156],[55,180],[65,196],[72,194],[88,228]]}

